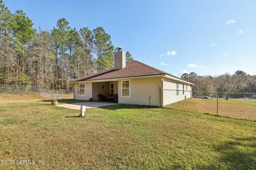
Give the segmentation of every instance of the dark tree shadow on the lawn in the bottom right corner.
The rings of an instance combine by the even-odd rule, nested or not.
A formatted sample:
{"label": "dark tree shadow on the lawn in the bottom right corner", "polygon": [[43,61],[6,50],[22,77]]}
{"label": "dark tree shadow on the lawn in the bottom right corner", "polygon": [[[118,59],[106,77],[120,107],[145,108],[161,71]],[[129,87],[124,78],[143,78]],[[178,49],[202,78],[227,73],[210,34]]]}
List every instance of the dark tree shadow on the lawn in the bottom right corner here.
{"label": "dark tree shadow on the lawn in the bottom right corner", "polygon": [[221,143],[215,150],[220,152],[217,160],[224,167],[215,164],[201,166],[199,169],[256,169],[256,137],[235,138],[232,141]]}

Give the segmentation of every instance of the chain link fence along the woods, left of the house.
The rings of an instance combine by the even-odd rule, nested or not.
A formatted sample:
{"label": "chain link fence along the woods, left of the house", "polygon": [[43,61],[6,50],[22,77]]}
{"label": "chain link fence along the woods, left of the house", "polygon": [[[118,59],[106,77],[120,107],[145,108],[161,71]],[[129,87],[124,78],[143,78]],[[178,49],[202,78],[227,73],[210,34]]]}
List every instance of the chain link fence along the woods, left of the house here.
{"label": "chain link fence along the woods, left of the house", "polygon": [[30,95],[51,99],[73,98],[73,88],[70,89],[45,89],[38,86],[23,86],[0,84],[0,95]]}

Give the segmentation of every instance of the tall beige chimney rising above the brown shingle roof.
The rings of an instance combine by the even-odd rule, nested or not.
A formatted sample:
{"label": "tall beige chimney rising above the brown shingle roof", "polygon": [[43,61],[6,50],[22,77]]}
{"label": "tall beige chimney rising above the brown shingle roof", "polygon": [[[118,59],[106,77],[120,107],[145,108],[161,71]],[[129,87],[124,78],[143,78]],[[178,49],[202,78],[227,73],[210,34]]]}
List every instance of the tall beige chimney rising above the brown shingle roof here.
{"label": "tall beige chimney rising above the brown shingle roof", "polygon": [[123,52],[122,48],[118,48],[117,52],[114,54],[114,69],[123,69],[126,66],[126,53]]}

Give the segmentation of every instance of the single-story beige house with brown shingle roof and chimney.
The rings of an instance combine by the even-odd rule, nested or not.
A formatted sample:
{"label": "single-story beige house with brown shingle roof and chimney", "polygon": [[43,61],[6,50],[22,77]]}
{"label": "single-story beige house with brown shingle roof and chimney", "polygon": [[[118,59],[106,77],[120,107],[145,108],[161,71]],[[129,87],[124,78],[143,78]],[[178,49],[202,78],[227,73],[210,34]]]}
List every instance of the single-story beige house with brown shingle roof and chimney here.
{"label": "single-story beige house with brown shingle roof and chimney", "polygon": [[164,106],[192,96],[193,83],[147,64],[126,63],[126,53],[114,55],[114,67],[70,81],[74,99],[98,101],[116,96],[119,104]]}

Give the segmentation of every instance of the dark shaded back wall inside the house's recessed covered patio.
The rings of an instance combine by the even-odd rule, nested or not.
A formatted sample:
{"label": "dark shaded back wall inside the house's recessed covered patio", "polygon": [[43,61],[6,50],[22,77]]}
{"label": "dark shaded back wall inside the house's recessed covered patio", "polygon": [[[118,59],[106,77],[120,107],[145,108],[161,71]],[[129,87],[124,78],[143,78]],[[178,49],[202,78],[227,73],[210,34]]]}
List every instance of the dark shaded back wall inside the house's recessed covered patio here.
{"label": "dark shaded back wall inside the house's recessed covered patio", "polygon": [[[102,88],[104,86],[104,88]],[[110,94],[110,82],[105,81],[105,82],[93,82],[92,83],[92,99],[93,101],[98,101],[99,97],[98,94],[102,94],[108,98]]]}

